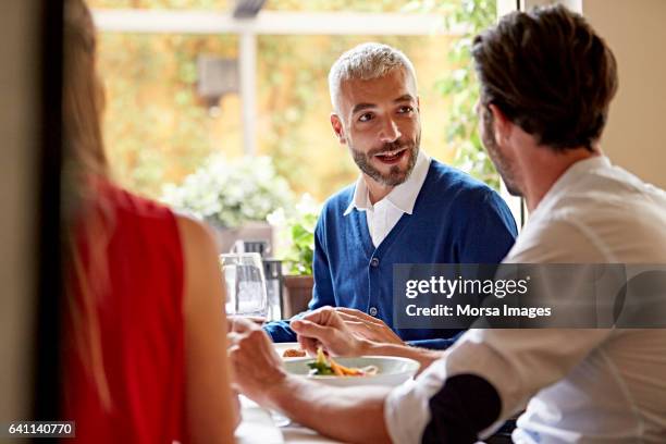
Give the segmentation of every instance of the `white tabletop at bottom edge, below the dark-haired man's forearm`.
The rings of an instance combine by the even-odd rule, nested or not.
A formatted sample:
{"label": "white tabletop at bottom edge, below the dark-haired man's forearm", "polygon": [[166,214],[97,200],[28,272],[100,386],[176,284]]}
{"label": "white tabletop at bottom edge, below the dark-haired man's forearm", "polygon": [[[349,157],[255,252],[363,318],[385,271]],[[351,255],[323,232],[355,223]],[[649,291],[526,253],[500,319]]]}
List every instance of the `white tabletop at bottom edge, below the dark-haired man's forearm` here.
{"label": "white tabletop at bottom edge, below the dark-haired man's forearm", "polygon": [[278,427],[271,412],[240,396],[242,421],[236,429],[237,444],[322,444],[340,443],[296,423]]}

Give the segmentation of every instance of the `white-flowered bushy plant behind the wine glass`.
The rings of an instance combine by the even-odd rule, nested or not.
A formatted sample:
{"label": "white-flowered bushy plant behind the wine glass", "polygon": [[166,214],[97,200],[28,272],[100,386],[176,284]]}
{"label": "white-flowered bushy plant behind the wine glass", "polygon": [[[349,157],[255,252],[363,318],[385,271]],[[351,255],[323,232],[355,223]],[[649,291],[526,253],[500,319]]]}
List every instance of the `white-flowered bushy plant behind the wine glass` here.
{"label": "white-flowered bushy plant behind the wine glass", "polygon": [[161,200],[215,227],[220,251],[229,251],[237,239],[272,245],[266,218],[278,208],[292,208],[294,197],[270,158],[213,155],[181,185],[164,186]]}

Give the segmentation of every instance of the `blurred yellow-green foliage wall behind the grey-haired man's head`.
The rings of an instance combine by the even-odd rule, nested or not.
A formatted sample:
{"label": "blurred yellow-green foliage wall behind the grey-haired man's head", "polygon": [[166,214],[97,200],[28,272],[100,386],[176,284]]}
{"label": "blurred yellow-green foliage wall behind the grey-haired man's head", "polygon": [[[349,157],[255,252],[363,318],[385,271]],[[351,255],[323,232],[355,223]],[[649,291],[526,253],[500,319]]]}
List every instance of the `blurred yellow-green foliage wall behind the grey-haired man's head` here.
{"label": "blurred yellow-green foliage wall behind the grey-haired man's head", "polygon": [[[220,25],[220,33],[206,35],[206,25],[197,28],[186,15],[231,14],[237,2],[91,0],[90,5],[99,18],[99,65],[108,90],[107,149],[118,181],[134,192],[161,198],[164,185],[183,183],[213,153],[229,161],[248,153],[268,156],[295,194],[309,193],[318,201],[349,184],[357,169],[330,127],[326,75],[342,52],[368,40],[399,48],[412,60],[421,96],[422,147],[441,161],[458,160],[472,173],[488,173],[483,159],[480,164],[469,161],[477,148],[473,143],[458,140],[467,138],[473,125],[454,127],[454,122],[476,98],[462,63],[466,54],[458,49],[468,44],[461,41],[465,30],[473,33],[492,23],[494,1],[268,0],[258,18],[269,14],[270,18],[260,23],[270,20],[275,28],[284,22],[294,34],[270,34],[261,25],[252,29],[250,58],[256,72],[248,82],[255,91],[245,96],[240,65],[245,30],[229,26],[225,32]],[[145,15],[141,26],[141,16],[132,15],[132,10],[169,12],[172,23],[188,22],[189,33],[152,32],[160,27],[159,20]],[[104,21],[119,11],[127,13],[125,24],[133,18],[134,24],[123,27]],[[367,22],[366,27],[381,34],[350,34],[358,30],[348,20],[355,13],[373,13],[375,23]],[[428,20],[410,28],[415,14]],[[311,24],[308,27],[299,17],[328,23],[330,30],[307,34]],[[212,91],[221,77],[227,84]],[[458,94],[449,94],[453,89]],[[244,114],[244,107],[251,115]],[[244,139],[244,124],[250,125],[254,139]],[[466,149],[467,153],[460,152]],[[498,185],[485,175],[482,178]]]}

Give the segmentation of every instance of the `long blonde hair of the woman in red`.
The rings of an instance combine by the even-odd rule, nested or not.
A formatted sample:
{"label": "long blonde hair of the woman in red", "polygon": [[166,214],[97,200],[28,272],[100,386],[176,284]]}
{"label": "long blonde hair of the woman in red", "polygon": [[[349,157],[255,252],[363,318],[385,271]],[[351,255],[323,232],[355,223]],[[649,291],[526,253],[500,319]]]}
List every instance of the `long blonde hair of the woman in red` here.
{"label": "long blonde hair of the woman in red", "polygon": [[111,212],[96,193],[96,183],[109,173],[101,132],[103,89],[95,66],[97,41],[90,11],[83,0],[66,0],[64,5],[62,193],[72,333],[66,346],[74,347],[109,410],[111,393],[97,314],[98,303],[110,288],[106,250],[113,225]]}

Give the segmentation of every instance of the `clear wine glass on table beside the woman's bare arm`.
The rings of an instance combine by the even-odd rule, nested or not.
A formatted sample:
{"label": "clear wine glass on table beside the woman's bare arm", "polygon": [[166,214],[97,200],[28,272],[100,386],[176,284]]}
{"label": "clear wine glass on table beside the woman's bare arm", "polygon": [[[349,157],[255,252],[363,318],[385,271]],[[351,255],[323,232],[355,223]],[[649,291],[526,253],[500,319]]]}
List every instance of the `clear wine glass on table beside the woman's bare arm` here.
{"label": "clear wine glass on table beside the woman's bare arm", "polygon": [[226,314],[263,318],[268,313],[268,296],[263,264],[258,252],[220,255],[226,283]]}

